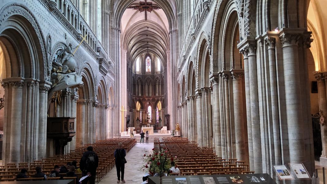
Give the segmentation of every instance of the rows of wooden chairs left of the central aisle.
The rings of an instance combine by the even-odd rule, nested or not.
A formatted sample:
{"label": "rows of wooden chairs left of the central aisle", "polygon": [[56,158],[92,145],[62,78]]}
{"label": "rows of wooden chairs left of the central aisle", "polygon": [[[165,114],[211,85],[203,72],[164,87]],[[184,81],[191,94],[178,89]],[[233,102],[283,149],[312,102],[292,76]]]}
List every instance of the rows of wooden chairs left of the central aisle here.
{"label": "rows of wooden chairs left of the central aisle", "polygon": [[[82,154],[86,151],[88,146],[93,146],[93,151],[99,157],[99,166],[97,168],[97,181],[99,182],[115,165],[113,152],[118,147],[118,143],[123,143],[128,152],[134,145],[136,145],[135,138],[110,138],[105,140],[98,140],[95,144],[86,144],[83,147],[76,147],[66,155],[54,155],[42,160],[36,160],[30,163],[7,163],[5,166],[0,166],[0,181],[12,181],[15,176],[20,173],[20,170],[27,169],[29,177],[35,174],[35,167],[42,167],[43,173],[49,175],[55,165],[66,165],[67,162],[77,160],[77,167]],[[77,174],[77,173],[76,173]],[[63,174],[65,175],[65,173]]]}

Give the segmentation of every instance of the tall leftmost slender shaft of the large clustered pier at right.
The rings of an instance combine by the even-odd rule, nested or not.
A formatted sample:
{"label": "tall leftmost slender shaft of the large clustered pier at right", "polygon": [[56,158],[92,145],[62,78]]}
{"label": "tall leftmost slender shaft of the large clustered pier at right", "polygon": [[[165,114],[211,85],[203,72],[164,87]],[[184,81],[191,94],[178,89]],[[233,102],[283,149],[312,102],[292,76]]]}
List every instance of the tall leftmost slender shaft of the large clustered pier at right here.
{"label": "tall leftmost slender shaft of the large clustered pier at right", "polygon": [[252,136],[252,120],[251,120],[251,97],[250,97],[250,74],[249,74],[249,49],[247,47],[240,50],[244,57],[244,79],[245,79],[245,96],[246,96],[246,113],[248,127],[248,144],[249,144],[249,163],[250,170],[254,170],[254,153],[253,153],[253,136]]}

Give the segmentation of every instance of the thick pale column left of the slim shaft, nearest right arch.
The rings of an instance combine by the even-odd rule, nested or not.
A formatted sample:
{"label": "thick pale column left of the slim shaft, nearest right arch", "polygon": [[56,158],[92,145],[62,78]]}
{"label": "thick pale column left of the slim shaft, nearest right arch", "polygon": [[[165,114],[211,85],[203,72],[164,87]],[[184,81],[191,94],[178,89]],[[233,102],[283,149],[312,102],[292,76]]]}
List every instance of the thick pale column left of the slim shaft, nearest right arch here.
{"label": "thick pale column left of the slim shaft, nearest right arch", "polygon": [[221,157],[221,127],[220,127],[220,110],[219,110],[219,78],[218,75],[213,75],[210,78],[211,83],[213,84],[213,91],[214,91],[214,103],[213,103],[213,129],[215,131],[215,148],[216,148],[216,155]]}

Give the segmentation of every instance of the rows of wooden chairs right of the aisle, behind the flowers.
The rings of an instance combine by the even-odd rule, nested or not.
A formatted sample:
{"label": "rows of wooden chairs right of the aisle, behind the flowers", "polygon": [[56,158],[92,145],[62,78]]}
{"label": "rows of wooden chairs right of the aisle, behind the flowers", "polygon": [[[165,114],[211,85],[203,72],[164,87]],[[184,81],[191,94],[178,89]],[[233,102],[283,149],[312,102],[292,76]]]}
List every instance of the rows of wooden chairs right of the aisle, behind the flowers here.
{"label": "rows of wooden chairs right of the aisle, behind the flowers", "polygon": [[154,143],[154,151],[164,148],[169,155],[176,157],[181,175],[218,175],[218,174],[250,174],[249,164],[245,161],[223,159],[215,155],[215,149],[199,147],[188,138],[158,138]]}

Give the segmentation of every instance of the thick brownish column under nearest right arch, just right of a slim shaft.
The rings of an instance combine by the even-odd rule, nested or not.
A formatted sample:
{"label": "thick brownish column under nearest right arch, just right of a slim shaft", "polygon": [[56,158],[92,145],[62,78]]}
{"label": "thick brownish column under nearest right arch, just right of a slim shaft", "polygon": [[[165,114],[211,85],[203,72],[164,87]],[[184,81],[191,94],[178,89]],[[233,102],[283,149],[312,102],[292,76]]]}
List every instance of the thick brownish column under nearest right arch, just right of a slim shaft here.
{"label": "thick brownish column under nearest right arch, just right of a slim shaft", "polygon": [[232,69],[231,77],[233,81],[233,101],[234,101],[234,126],[235,126],[235,142],[236,142],[236,158],[245,161],[247,154],[245,153],[245,137],[244,137],[244,121],[243,121],[243,91],[242,78],[244,69]]}

